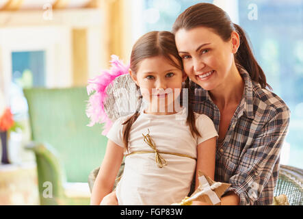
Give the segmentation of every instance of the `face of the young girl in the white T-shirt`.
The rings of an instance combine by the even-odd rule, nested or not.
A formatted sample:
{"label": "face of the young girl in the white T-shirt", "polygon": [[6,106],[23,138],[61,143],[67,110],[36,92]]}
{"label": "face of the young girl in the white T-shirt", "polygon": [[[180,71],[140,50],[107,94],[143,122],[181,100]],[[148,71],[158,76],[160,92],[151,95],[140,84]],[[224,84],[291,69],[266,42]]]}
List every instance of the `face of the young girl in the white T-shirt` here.
{"label": "face of the young girl in the white T-shirt", "polygon": [[171,106],[174,106],[174,101],[181,92],[182,82],[187,78],[182,70],[158,55],[142,60],[137,73],[134,74],[131,70],[129,73],[140,87],[143,98],[150,103],[149,111],[175,112]]}

